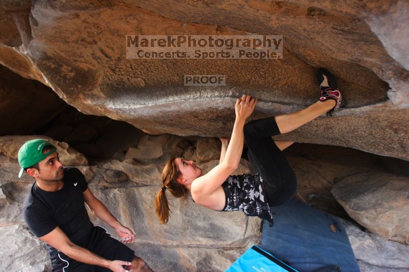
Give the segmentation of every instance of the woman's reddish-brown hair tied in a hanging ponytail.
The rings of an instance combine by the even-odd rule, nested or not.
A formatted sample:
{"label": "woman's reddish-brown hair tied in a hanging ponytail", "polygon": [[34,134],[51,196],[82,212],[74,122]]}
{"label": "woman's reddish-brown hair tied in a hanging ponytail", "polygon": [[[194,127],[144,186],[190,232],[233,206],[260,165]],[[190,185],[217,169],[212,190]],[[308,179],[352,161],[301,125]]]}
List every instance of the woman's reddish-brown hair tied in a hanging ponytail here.
{"label": "woman's reddish-brown hair tied in a hanging ponytail", "polygon": [[169,214],[172,212],[169,209],[169,203],[165,191],[169,190],[174,197],[188,196],[188,189],[177,182],[177,178],[180,176],[180,171],[177,168],[175,159],[176,158],[172,158],[165,164],[162,171],[162,189],[155,197],[156,214],[162,224],[168,222]]}

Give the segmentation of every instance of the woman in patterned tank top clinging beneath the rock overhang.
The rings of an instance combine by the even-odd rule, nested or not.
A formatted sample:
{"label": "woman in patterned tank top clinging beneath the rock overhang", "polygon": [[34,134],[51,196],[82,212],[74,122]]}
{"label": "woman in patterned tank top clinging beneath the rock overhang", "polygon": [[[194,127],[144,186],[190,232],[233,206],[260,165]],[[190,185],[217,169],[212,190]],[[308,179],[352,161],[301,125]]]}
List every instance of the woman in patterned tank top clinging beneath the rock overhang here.
{"label": "woman in patterned tank top clinging beneath the rock overhang", "polygon": [[[162,172],[162,189],[155,198],[160,221],[166,224],[169,219],[168,190],[174,197],[187,197],[190,193],[196,204],[216,211],[242,210],[245,215],[268,220],[271,226],[270,207],[287,203],[297,190],[296,176],[281,152],[293,142],[275,142],[271,136],[293,131],[326,112],[332,114],[345,103],[330,72],[321,68],[316,78],[320,100],[293,113],[245,123],[258,100],[244,94],[238,98],[230,143],[220,139],[220,162],[206,175],[202,176],[202,170],[193,161],[170,159]],[[231,176],[240,163],[244,139],[249,161],[258,174]]]}

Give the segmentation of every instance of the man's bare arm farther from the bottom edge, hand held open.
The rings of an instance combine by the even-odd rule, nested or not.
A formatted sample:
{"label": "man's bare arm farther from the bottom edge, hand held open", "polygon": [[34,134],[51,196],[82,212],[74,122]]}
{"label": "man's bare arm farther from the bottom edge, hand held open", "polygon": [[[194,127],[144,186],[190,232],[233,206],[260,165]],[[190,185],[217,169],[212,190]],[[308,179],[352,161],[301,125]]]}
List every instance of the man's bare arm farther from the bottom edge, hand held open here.
{"label": "man's bare arm farther from the bottom edge, hand held open", "polygon": [[115,218],[105,207],[105,205],[94,196],[94,194],[88,189],[83,193],[85,203],[92,210],[95,215],[106,222],[114,229],[118,235],[122,238],[124,243],[130,243],[135,240],[135,235],[127,227],[123,226],[117,218]]}

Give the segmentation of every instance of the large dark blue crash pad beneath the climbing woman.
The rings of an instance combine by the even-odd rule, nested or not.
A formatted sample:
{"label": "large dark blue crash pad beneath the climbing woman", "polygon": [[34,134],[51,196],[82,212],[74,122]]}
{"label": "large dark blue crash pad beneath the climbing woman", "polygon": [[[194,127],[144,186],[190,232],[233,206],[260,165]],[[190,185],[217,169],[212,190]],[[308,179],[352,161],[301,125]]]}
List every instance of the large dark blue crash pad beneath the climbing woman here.
{"label": "large dark blue crash pad beneath the climbing woman", "polygon": [[327,265],[360,271],[340,218],[297,200],[272,207],[274,225],[264,221],[260,248],[286,260],[300,272]]}

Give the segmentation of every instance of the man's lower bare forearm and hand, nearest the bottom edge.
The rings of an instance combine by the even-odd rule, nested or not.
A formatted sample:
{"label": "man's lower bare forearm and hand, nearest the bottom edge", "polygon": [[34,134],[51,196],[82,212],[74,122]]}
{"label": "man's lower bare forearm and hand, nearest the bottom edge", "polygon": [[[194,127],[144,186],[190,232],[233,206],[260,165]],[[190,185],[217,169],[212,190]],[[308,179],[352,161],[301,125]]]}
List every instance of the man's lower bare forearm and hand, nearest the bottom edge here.
{"label": "man's lower bare forearm and hand, nearest the bottom edge", "polygon": [[82,263],[99,265],[115,272],[125,272],[122,265],[128,266],[131,264],[130,262],[119,260],[110,261],[90,252],[87,249],[81,248],[81,246],[73,243],[59,227],[56,227],[50,233],[41,236],[40,239],[51,245],[56,250],[64,253],[66,256],[69,256],[70,258]]}

